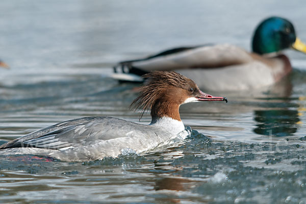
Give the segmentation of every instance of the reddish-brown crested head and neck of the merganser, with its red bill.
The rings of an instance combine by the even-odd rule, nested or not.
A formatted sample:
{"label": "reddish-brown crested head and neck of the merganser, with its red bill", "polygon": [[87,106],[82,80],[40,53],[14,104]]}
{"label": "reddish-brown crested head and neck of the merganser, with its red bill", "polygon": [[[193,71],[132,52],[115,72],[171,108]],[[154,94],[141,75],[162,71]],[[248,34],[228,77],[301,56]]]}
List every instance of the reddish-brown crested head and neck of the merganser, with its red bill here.
{"label": "reddish-brown crested head and neck of the merganser, with its red bill", "polygon": [[[179,107],[184,103],[196,101],[225,101],[224,97],[214,97],[201,92],[191,79],[168,71],[154,71],[142,76],[144,85],[140,95],[133,101],[133,109],[151,110],[152,118],[170,117],[181,121]],[[142,117],[140,116],[140,118]]]}

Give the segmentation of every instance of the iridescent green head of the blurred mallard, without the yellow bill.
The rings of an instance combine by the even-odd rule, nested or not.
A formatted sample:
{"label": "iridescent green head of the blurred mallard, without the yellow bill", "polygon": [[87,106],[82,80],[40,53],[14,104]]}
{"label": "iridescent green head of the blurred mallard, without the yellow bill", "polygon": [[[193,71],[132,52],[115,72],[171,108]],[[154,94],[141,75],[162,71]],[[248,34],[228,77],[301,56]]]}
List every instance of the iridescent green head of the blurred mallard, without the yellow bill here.
{"label": "iridescent green head of the blurred mallard, without the yellow bill", "polygon": [[291,22],[281,17],[269,17],[263,20],[254,32],[252,50],[266,54],[291,48],[296,40]]}

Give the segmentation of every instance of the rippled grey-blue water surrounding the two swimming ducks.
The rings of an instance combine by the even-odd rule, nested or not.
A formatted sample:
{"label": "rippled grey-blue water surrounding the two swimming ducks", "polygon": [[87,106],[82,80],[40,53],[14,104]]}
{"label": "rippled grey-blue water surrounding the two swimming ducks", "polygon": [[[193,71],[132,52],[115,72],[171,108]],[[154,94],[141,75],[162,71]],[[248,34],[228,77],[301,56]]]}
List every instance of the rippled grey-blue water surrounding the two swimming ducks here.
{"label": "rippled grey-blue water surrounding the two swimming ducks", "polygon": [[[236,44],[250,51],[256,26],[262,19],[274,15],[288,18],[297,36],[305,42],[305,8],[306,2],[302,0],[2,0],[0,58],[10,69],[0,69],[0,140],[4,143],[39,128],[85,116],[108,115],[138,122],[139,113],[129,109],[136,96],[133,88],[138,85],[119,84],[110,77],[118,61],[206,43]],[[295,156],[304,156],[301,138],[306,135],[306,56],[289,50],[285,53],[294,71],[282,82],[281,94],[274,92],[277,87],[248,93],[210,93],[227,97],[229,103],[182,106],[184,124],[213,138],[209,149],[203,145],[207,139],[194,133],[194,137],[197,135],[194,143],[189,141],[178,150],[169,150],[170,153],[136,157],[136,162],[134,158],[131,161],[121,157],[85,164],[89,167],[63,163],[54,167],[40,163],[12,166],[11,162],[2,161],[1,169],[13,171],[1,174],[6,183],[3,188],[8,189],[3,191],[7,193],[4,199],[18,201],[22,197],[31,203],[45,200],[48,195],[59,203],[67,199],[71,203],[78,199],[172,203],[182,198],[189,203],[191,200],[233,203],[240,196],[245,203],[282,203],[294,195],[296,203],[303,201],[305,191],[301,185],[305,183],[302,176],[305,170],[301,169],[305,161],[298,163]],[[149,116],[141,120],[144,124],[149,122]],[[287,153],[274,154],[260,143],[280,144],[279,148]],[[236,157],[227,151],[236,152]],[[285,155],[287,160],[282,160]],[[202,163],[203,160],[210,162]],[[272,163],[277,164],[271,166]],[[266,168],[268,164],[272,170]],[[19,170],[30,174],[49,172],[59,177],[29,175],[33,182],[24,185],[23,191],[13,186],[23,185],[22,178],[18,180]],[[298,176],[294,177],[295,173]],[[73,180],[70,176],[84,179]],[[8,177],[16,177],[17,184],[10,184],[9,179],[5,180]],[[172,181],[171,188],[182,188],[164,185],[165,177],[165,183]],[[225,178],[225,185],[218,182]],[[281,178],[287,183],[284,180],[282,183]],[[105,179],[109,185],[103,183]],[[53,186],[46,185],[44,192],[37,191],[41,183],[49,181]],[[89,190],[83,193],[83,185],[98,188],[99,193],[92,194]],[[157,191],[161,189],[168,191]],[[126,191],[130,194],[122,195]]]}

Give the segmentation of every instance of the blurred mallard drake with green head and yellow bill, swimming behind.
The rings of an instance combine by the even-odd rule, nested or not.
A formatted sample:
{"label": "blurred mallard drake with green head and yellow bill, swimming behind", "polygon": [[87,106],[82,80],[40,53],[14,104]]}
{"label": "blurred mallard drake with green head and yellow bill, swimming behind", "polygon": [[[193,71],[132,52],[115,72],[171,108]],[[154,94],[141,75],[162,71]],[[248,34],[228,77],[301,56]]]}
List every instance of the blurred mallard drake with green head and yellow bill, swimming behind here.
{"label": "blurred mallard drake with green head and yellow bill, swimming behind", "polygon": [[[287,48],[306,53],[306,46],[296,37],[291,22],[270,17],[254,32],[252,53],[230,44],[175,48],[147,58],[119,62],[114,67],[117,74],[113,76],[119,80],[141,81],[139,76],[153,70],[175,70],[203,89],[255,89],[271,85],[291,72],[289,59],[279,53]],[[118,74],[117,67],[121,67],[123,74]]]}

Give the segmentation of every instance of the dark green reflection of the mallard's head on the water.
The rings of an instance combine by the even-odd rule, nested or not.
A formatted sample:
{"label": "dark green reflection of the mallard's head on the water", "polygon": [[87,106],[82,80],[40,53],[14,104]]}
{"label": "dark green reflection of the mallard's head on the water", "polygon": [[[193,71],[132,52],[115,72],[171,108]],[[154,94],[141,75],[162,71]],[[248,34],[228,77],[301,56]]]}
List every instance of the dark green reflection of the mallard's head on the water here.
{"label": "dark green reflection of the mallard's head on the water", "polygon": [[254,120],[258,122],[254,132],[277,137],[290,136],[297,130],[297,110],[256,110]]}

